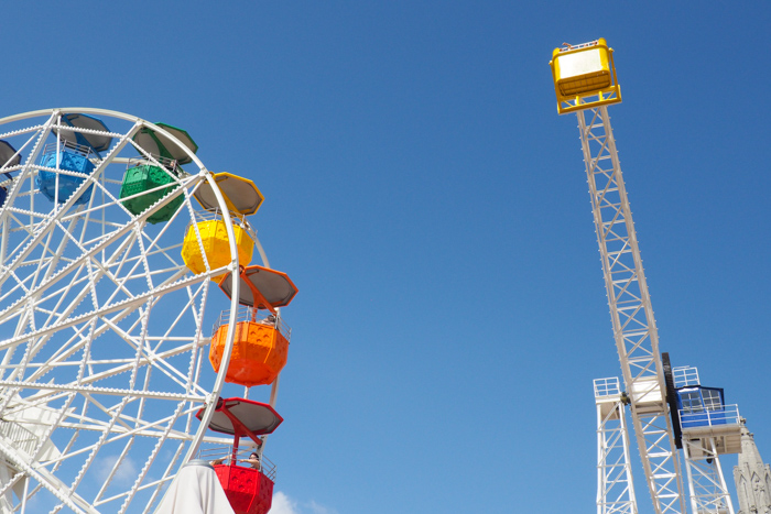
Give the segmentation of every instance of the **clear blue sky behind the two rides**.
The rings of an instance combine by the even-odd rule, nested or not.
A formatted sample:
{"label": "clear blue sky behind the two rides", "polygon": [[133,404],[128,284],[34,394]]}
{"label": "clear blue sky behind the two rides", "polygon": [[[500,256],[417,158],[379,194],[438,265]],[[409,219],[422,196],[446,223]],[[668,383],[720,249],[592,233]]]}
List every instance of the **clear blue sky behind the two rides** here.
{"label": "clear blue sky behind the two rides", "polygon": [[267,452],[285,513],[594,512],[591,380],[620,369],[547,62],[599,36],[661,349],[725,387],[771,461],[767,2],[42,1],[3,20],[2,116],[184,127],[265,195],[254,225],[300,288]]}

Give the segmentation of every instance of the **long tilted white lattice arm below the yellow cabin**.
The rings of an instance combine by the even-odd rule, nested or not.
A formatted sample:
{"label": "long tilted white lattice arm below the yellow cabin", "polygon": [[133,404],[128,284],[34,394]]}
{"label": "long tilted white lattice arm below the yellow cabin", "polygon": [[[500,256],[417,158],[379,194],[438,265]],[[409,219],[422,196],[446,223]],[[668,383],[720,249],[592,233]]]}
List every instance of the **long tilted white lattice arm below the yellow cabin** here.
{"label": "long tilted white lattice arm below the yellow cabin", "polygon": [[610,118],[606,106],[576,114],[613,337],[648,488],[656,514],[684,513],[659,336]]}

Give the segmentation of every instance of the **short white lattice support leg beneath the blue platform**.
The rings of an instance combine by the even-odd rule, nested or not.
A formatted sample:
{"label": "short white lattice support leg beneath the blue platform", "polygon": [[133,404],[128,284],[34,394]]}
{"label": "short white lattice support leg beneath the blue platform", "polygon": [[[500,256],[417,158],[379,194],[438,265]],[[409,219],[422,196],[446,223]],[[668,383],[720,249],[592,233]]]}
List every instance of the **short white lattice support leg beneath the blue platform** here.
{"label": "short white lattice support leg beneath the blue platform", "polygon": [[708,438],[689,441],[683,438],[683,452],[685,453],[692,512],[695,514],[734,514],[734,503],[723,477],[723,467],[717,456],[715,440]]}

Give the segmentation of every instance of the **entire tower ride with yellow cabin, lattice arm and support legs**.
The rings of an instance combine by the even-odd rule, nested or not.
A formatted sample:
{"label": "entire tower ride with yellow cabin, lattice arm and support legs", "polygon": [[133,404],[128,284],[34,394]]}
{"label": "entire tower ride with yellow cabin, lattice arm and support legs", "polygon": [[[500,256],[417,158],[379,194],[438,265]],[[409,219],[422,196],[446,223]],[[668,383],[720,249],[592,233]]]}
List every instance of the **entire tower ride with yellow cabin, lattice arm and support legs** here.
{"label": "entire tower ride with yellow cabin, lattice arm and support legs", "polygon": [[677,449],[683,450],[693,514],[734,514],[718,456],[741,451],[740,417],[723,390],[703,387],[695,368],[660,354],[651,299],[608,105],[621,101],[613,51],[604,39],[555,48],[550,63],[560,114],[578,117],[597,242],[616,348],[618,379],[595,381],[597,513],[637,514],[626,406],[656,514],[685,514]]}

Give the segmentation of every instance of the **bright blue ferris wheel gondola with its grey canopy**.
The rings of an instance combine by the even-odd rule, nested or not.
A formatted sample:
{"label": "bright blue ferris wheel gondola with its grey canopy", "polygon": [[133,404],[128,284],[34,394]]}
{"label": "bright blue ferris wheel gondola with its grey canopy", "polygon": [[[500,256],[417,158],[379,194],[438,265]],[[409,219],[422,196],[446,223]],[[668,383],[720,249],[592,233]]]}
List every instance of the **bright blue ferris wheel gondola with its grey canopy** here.
{"label": "bright blue ferris wheel gondola with its grey canopy", "polygon": [[[98,118],[87,114],[62,114],[61,124],[76,129],[108,132],[107,125]],[[43,149],[40,165],[76,174],[41,169],[35,177],[35,185],[51,201],[64,204],[77,190],[87,176],[94,173],[94,158],[110,147],[112,138],[106,134],[91,134],[75,130],[54,130],[57,143],[48,143]],[[75,200],[75,205],[88,203],[94,186],[89,186]]]}

